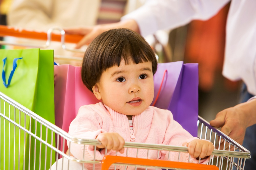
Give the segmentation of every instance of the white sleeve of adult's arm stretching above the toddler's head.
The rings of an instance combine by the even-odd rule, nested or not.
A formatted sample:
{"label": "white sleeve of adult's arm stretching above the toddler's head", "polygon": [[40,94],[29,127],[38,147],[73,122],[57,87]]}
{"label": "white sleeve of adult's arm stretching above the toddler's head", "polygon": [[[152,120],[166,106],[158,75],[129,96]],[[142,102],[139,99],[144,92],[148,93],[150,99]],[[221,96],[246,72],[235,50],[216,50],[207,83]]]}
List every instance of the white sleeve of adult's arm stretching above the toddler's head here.
{"label": "white sleeve of adult's arm stretching above the toddler's head", "polygon": [[173,29],[191,20],[207,20],[230,0],[150,0],[142,7],[122,17],[137,22],[142,36],[159,29]]}

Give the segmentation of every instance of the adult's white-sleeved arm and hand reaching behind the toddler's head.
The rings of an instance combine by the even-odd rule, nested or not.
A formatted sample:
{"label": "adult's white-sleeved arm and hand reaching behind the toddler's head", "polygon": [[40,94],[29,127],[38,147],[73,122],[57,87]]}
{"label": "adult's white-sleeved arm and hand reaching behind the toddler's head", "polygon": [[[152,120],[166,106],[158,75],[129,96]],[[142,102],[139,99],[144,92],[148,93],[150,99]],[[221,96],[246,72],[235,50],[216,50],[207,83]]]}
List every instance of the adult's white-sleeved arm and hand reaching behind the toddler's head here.
{"label": "adult's white-sleeved arm and hand reaching behind the toddler's head", "polygon": [[142,36],[159,29],[171,29],[191,20],[214,16],[230,0],[149,0],[142,7],[123,16],[120,22],[95,27],[64,29],[66,33],[84,35],[76,48],[89,44],[97,35],[113,28],[128,28]]}

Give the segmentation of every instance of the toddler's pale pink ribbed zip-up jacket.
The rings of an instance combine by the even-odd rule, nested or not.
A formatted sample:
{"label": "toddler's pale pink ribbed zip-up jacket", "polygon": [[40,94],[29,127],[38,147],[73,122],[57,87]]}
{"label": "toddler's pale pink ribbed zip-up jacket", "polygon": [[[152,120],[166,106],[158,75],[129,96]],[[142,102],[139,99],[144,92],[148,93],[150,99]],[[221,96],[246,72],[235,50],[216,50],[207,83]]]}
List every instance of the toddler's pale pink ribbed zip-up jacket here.
{"label": "toddler's pale pink ribbed zip-up jacket", "polygon": [[[191,136],[189,132],[173,120],[173,115],[170,111],[153,106],[149,106],[140,115],[133,116],[132,122],[136,138],[132,142],[182,146],[183,142],[198,139]],[[80,107],[76,118],[69,127],[69,134],[78,138],[95,139],[102,132],[119,133],[126,142],[131,142],[130,125],[127,116],[112,110],[101,102]],[[84,156],[85,160],[93,160],[94,147],[88,145],[85,148],[83,155],[84,145],[71,143],[70,152],[77,159],[82,160]],[[104,153],[105,149],[96,151],[95,159],[102,160]],[[115,155],[115,153],[115,151],[108,152],[110,155]],[[118,152],[117,155],[126,156],[126,149],[124,154]],[[137,149],[129,148],[128,156],[136,157]],[[139,149],[138,157],[147,158],[147,150]],[[148,158],[168,160],[168,152],[160,151],[159,155],[157,155],[157,151],[152,150],[149,152]],[[188,158],[188,153],[181,153],[179,161],[188,162]],[[178,152],[170,152],[169,160],[177,161]],[[201,160],[200,163],[206,164],[208,161],[209,158]],[[192,156],[190,157],[190,162],[198,163]],[[90,169],[90,167],[87,168]]]}

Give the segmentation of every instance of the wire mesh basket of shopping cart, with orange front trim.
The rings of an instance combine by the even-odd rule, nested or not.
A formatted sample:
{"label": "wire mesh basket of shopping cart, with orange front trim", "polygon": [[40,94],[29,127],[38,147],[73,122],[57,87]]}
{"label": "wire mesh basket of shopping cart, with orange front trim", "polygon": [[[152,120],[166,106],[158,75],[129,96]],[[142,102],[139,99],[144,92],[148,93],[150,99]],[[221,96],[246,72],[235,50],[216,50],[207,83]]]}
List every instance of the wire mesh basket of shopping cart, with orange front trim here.
{"label": "wire mesh basket of shopping cart, with orange front trim", "polygon": [[[214,143],[216,149],[208,158],[207,165],[204,160],[191,163],[188,156],[182,162],[184,154],[188,155],[187,147],[126,142],[125,156],[119,152],[105,149],[105,157],[97,160],[97,140],[80,139],[70,136],[67,132],[41,118],[27,108],[0,93],[0,169],[243,169],[245,160],[250,158],[250,152],[209,125],[198,117],[198,137],[208,139]],[[43,134],[42,131],[46,133]],[[55,138],[54,138],[55,137]],[[53,140],[56,140],[54,142]],[[223,141],[219,143],[219,141]],[[54,144],[56,143],[56,144]],[[61,144],[63,143],[63,145]],[[84,157],[76,159],[66,151],[73,145],[80,145],[85,151],[89,145],[94,155],[92,159]],[[35,148],[39,148],[36,150]],[[132,152],[135,157],[130,157]],[[167,160],[158,160],[162,154]],[[175,153],[175,154],[173,154]],[[110,156],[111,154],[112,156]],[[83,154],[84,155],[84,154]],[[154,160],[150,155],[156,155]],[[104,155],[103,155],[104,156]],[[234,159],[237,157],[238,159]],[[157,162],[155,162],[157,161]],[[53,165],[52,165],[53,164]],[[51,166],[52,165],[52,166]],[[217,166],[217,167],[216,167]]]}

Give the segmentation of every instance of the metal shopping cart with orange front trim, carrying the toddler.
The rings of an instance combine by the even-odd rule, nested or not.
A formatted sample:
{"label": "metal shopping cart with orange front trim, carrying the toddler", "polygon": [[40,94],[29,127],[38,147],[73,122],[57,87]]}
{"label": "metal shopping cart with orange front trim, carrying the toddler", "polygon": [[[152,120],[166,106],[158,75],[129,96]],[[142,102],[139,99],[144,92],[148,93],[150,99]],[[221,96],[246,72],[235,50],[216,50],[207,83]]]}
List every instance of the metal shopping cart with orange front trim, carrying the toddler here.
{"label": "metal shopping cart with orange front trim, carrying the toddler", "polygon": [[[0,120],[1,120],[1,128],[4,128],[4,133],[1,136],[4,137],[4,139],[0,139],[0,145],[4,146],[0,149],[0,160],[1,163],[4,165],[0,165],[0,167],[4,167],[4,169],[14,169],[16,164],[20,164],[22,162],[25,162],[26,159],[29,159],[28,162],[29,169],[52,169],[50,165],[52,165],[54,162],[52,161],[52,156],[47,157],[46,152],[50,150],[51,155],[55,156],[57,158],[56,160],[62,158],[66,159],[67,163],[64,163],[65,161],[59,162],[57,161],[55,163],[55,166],[57,169],[72,169],[70,167],[73,163],[78,164],[91,164],[92,169],[97,169],[99,166],[101,166],[102,169],[108,169],[110,166],[113,169],[119,169],[120,167],[123,168],[134,168],[134,169],[157,169],[157,168],[164,168],[164,169],[244,169],[245,161],[246,159],[250,158],[250,152],[243,148],[240,144],[235,142],[234,140],[230,139],[228,136],[223,134],[218,129],[215,129],[209,125],[206,120],[202,119],[200,116],[198,116],[198,137],[200,139],[208,139],[214,143],[217,149],[215,149],[212,152],[212,155],[210,156],[210,162],[207,165],[201,165],[201,164],[194,164],[194,163],[182,163],[177,160],[177,162],[172,161],[163,161],[163,160],[152,160],[147,158],[140,158],[138,157],[138,153],[142,150],[146,150],[147,153],[151,151],[157,151],[158,155],[160,151],[166,150],[168,154],[170,152],[188,152],[187,147],[177,147],[177,146],[169,146],[169,145],[158,145],[158,144],[145,144],[145,143],[134,143],[134,142],[126,142],[124,147],[129,149],[134,149],[137,152],[137,157],[122,157],[122,156],[110,156],[106,155],[103,160],[98,161],[94,160],[88,161],[88,160],[78,160],[70,155],[70,152],[67,153],[64,152],[64,145],[60,147],[61,141],[63,143],[77,143],[81,146],[85,145],[94,145],[94,153],[96,152],[96,145],[99,145],[100,142],[97,140],[88,140],[88,139],[80,139],[70,136],[67,132],[63,131],[59,127],[55,126],[54,124],[51,124],[47,120],[43,119],[42,117],[38,116],[37,114],[31,112],[24,106],[20,105],[19,103],[15,102],[14,100],[10,99],[8,96],[2,94],[0,92]],[[14,112],[13,112],[14,110]],[[26,123],[22,123],[22,121],[30,122],[30,126],[26,127]],[[34,124],[32,123],[34,122]],[[35,130],[34,132],[31,131],[31,125],[34,125],[35,128],[38,128],[38,125],[40,125],[40,129]],[[36,126],[37,125],[37,126]],[[51,134],[51,138],[49,139],[42,139],[42,129],[46,129],[46,133]],[[38,130],[40,133],[37,133]],[[18,135],[17,135],[18,134]],[[25,146],[22,146],[25,142],[21,142],[20,136],[21,134],[26,134],[29,136],[28,141],[26,143],[29,143],[29,149],[35,148],[39,143],[40,145],[40,154],[36,153],[35,151],[31,150],[29,152],[29,155],[20,155],[20,152],[17,152],[17,150],[20,151],[20,149],[24,149]],[[8,136],[14,135],[17,136],[14,137],[15,145],[10,146],[8,143]],[[47,135],[46,135],[47,136]],[[56,145],[53,145],[53,137],[56,137]],[[219,145],[219,141],[224,140],[223,145]],[[16,148],[16,152],[10,153],[11,147]],[[69,144],[70,147],[70,144]],[[4,149],[3,149],[4,148]],[[226,148],[226,150],[225,150]],[[14,149],[15,150],[15,149]],[[25,153],[25,152],[24,152]],[[55,158],[53,160],[55,160]],[[235,159],[237,158],[237,159]],[[189,158],[190,159],[190,158]],[[36,160],[40,162],[39,165],[37,165],[35,162]],[[199,159],[200,162],[200,159]],[[70,165],[70,166],[69,166]],[[216,165],[216,166],[212,166]],[[17,166],[17,165],[16,165]],[[25,169],[25,165],[18,166],[19,169]],[[84,166],[82,166],[82,169]]]}

